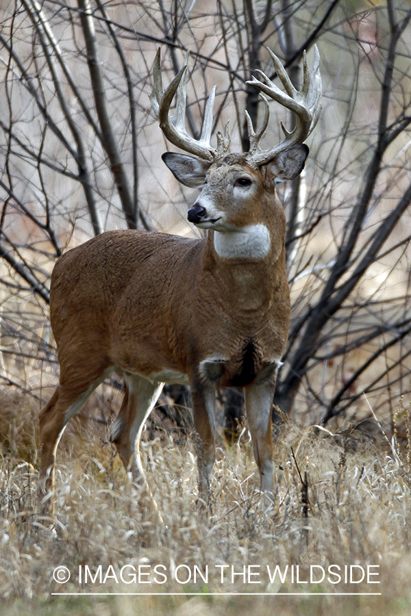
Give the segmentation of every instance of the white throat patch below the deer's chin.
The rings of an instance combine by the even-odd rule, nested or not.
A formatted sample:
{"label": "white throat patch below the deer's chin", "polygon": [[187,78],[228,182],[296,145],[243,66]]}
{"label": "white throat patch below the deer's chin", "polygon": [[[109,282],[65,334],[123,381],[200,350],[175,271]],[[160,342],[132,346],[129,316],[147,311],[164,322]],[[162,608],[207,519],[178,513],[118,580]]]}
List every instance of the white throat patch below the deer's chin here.
{"label": "white throat patch below the deer's chin", "polygon": [[214,248],[223,259],[262,259],[271,248],[265,224],[249,224],[238,231],[214,231]]}

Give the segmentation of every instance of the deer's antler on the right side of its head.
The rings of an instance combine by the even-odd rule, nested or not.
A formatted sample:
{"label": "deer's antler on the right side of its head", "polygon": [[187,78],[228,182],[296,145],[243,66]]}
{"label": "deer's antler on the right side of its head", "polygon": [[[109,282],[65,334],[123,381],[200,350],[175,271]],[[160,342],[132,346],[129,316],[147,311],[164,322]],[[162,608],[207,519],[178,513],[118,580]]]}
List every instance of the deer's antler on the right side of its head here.
{"label": "deer's antler on the right side of its head", "polygon": [[[247,84],[251,84],[260,90],[260,96],[264,101],[264,118],[258,131],[254,131],[251,118],[247,112],[247,128],[249,132],[250,149],[247,153],[247,161],[252,166],[259,167],[269,162],[273,157],[292,145],[303,143],[319,119],[321,111],[321,75],[319,71],[320,54],[316,45],[314,45],[314,63],[311,72],[308,69],[306,52],[303,54],[303,88],[302,90],[296,90],[292,85],[290,78],[286,73],[286,69],[279,61],[275,53],[269,49],[270,55],[273,59],[275,71],[284,86],[286,92],[279,90],[273,81],[267,77],[262,70],[258,70],[259,75],[264,79],[265,83],[252,77],[251,81],[247,81]],[[264,92],[268,97],[280,103],[286,109],[294,112],[297,116],[297,124],[292,131],[288,131],[281,123],[282,130],[284,131],[285,139],[270,150],[261,150],[260,141],[264,136],[266,127],[269,123],[269,103],[261,92]]]}

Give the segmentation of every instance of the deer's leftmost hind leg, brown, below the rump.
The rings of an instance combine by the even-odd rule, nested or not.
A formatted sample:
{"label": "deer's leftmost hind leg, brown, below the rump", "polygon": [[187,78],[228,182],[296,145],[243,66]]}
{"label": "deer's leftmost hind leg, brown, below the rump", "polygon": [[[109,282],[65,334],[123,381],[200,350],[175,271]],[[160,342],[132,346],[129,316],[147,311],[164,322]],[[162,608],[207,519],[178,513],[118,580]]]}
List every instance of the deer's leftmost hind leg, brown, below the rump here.
{"label": "deer's leftmost hind leg, brown, below the rump", "polygon": [[82,374],[82,378],[66,380],[61,378],[60,385],[56,387],[53,396],[40,411],[40,441],[42,444],[40,489],[44,492],[54,489],[55,452],[64,428],[104,380],[109,370],[105,372],[99,370],[88,378],[85,378],[85,371],[76,372]]}

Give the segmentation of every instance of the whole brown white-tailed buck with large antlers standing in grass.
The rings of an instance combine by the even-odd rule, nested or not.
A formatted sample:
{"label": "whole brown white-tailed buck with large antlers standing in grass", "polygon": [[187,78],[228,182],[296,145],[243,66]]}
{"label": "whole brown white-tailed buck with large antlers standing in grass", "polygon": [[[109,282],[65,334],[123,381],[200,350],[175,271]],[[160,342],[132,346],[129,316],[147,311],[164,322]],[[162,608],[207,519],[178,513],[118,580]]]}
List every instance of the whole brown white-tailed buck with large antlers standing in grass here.
{"label": "whole brown white-tailed buck with large antlers standing in grass", "polygon": [[[263,117],[255,130],[246,112],[250,147],[230,153],[228,125],[211,145],[214,86],[201,136],[185,128],[187,59],[164,90],[160,49],[153,65],[151,105],[171,144],[184,153],[162,159],[175,178],[199,189],[188,221],[205,238],[139,230],[107,231],[76,246],[53,268],[51,328],[60,382],[40,411],[40,480],[53,493],[55,454],[66,424],[114,372],[123,377],[119,414],[110,428],[130,478],[144,482],[142,428],[164,383],[190,386],[196,432],[198,492],[210,499],[216,450],[216,389],[240,387],[259,489],[273,495],[271,411],[277,371],[288,341],[286,216],[277,181],[294,179],[308,156],[304,144],[321,110],[319,52],[312,70],[303,56],[303,86],[292,85],[269,50],[284,91],[258,70],[247,84],[260,91]],[[175,99],[175,113],[171,104]],[[273,99],[296,116],[284,139],[262,149]]]}

